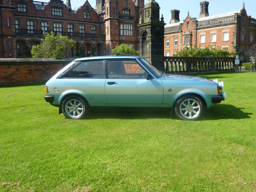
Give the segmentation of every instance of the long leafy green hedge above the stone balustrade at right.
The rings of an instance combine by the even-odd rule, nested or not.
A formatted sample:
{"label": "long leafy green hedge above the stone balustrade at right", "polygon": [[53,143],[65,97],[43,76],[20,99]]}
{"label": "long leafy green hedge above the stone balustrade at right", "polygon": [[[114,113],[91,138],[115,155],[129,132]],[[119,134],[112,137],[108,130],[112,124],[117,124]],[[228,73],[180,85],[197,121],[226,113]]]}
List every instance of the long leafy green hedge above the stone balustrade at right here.
{"label": "long leafy green hedge above the stone balustrade at right", "polygon": [[177,54],[173,56],[176,57],[234,57],[235,54],[233,52],[229,52],[227,50],[222,50],[218,47],[208,46],[206,48],[194,47],[180,50]]}

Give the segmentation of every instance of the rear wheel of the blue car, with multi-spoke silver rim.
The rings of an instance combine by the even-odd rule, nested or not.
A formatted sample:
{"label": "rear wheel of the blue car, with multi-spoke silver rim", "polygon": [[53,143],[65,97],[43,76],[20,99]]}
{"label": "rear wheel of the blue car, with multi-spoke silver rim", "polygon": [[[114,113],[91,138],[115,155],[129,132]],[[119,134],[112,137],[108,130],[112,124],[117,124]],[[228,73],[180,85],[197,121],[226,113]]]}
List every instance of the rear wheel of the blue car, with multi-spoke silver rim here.
{"label": "rear wheel of the blue car, with multi-spoke silver rim", "polygon": [[84,118],[89,112],[89,104],[80,97],[72,96],[66,98],[62,105],[61,110],[65,117],[70,119]]}

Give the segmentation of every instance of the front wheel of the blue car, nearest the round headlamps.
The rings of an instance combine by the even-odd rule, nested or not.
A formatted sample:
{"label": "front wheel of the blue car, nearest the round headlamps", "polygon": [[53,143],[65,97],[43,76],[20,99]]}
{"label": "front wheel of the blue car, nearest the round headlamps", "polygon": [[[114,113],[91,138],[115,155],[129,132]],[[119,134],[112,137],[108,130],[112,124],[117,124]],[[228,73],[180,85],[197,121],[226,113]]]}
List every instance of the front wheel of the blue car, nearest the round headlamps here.
{"label": "front wheel of the blue car, nearest the round headlamps", "polygon": [[204,103],[201,98],[188,95],[178,99],[175,105],[175,113],[182,120],[197,120],[204,110]]}

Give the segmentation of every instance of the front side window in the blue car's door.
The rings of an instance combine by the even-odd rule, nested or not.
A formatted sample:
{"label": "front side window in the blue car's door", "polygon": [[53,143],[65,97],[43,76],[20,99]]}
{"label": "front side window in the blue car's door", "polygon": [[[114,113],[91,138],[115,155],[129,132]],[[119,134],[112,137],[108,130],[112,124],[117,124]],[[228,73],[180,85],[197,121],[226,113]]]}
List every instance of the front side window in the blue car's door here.
{"label": "front side window in the blue car's door", "polygon": [[134,60],[108,60],[109,79],[146,79],[147,72]]}

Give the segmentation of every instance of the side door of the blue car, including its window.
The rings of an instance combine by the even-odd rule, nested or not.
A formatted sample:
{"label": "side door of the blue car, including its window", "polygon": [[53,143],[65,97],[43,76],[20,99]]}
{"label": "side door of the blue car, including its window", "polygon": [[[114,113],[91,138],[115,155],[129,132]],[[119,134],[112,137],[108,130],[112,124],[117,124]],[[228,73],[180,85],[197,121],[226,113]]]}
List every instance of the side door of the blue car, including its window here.
{"label": "side door of the blue car, including its window", "polygon": [[105,83],[108,106],[160,107],[163,102],[161,80],[147,80],[147,71],[136,60],[107,60]]}

